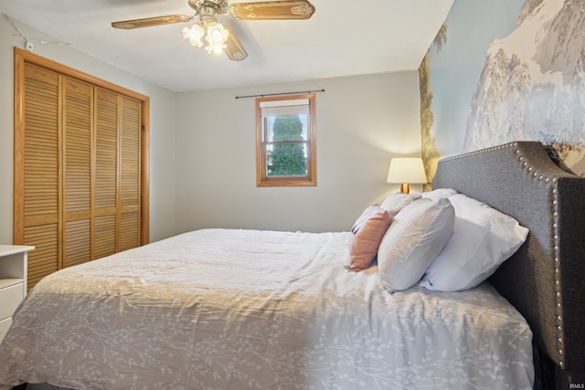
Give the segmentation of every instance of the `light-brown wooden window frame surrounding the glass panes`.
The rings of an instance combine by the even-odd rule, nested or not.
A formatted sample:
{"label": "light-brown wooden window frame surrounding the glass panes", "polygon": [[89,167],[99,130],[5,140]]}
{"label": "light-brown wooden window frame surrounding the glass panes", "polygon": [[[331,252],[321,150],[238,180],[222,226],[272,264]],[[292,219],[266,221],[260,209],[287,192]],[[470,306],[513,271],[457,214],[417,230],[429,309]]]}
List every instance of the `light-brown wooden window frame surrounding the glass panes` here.
{"label": "light-brown wooden window frame surrounding the glass panes", "polygon": [[[261,103],[280,100],[309,100],[309,118],[307,121],[307,174],[303,176],[269,176],[267,174],[267,146],[278,142],[268,142],[263,138]],[[271,96],[256,99],[256,185],[259,187],[277,186],[315,186],[317,185],[317,147],[315,126],[314,93],[287,96]]]}

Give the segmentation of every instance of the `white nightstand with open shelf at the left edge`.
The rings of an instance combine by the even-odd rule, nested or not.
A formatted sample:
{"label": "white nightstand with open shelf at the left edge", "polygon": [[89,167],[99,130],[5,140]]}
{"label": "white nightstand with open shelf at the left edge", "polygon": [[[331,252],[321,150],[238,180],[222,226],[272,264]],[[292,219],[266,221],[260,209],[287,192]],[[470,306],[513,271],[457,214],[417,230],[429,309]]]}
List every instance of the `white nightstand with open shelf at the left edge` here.
{"label": "white nightstand with open shelf at the left edge", "polygon": [[0,342],[27,295],[27,253],[35,247],[0,245]]}

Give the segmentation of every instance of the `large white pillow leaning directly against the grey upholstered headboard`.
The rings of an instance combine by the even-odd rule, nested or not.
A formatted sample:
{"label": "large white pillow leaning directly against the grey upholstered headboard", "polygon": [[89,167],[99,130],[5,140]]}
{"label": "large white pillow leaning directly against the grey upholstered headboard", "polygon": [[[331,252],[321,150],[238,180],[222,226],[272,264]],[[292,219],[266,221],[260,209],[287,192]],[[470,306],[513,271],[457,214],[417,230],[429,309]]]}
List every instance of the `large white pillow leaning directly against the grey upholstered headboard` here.
{"label": "large white pillow leaning directly against the grey upholstered headboard", "polygon": [[449,197],[455,208],[452,236],[420,282],[430,290],[471,289],[495,272],[527,239],[516,219],[463,194]]}

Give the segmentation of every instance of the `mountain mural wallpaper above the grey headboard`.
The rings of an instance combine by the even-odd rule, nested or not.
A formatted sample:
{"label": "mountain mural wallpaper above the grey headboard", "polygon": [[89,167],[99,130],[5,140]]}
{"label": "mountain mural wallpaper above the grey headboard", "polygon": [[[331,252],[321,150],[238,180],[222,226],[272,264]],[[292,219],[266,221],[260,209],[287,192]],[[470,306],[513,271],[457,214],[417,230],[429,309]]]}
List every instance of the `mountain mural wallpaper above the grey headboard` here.
{"label": "mountain mural wallpaper above the grey headboard", "polygon": [[430,179],[441,156],[516,140],[585,176],[585,1],[455,0],[419,70]]}

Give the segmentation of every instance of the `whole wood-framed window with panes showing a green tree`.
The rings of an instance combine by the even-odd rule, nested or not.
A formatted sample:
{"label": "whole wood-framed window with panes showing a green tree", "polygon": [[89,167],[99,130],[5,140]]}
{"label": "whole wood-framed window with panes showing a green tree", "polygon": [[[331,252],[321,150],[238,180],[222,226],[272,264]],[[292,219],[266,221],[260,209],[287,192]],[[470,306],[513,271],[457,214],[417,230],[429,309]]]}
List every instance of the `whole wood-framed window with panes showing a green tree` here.
{"label": "whole wood-framed window with panes showing a green tree", "polygon": [[256,184],[316,185],[314,94],[256,100]]}

